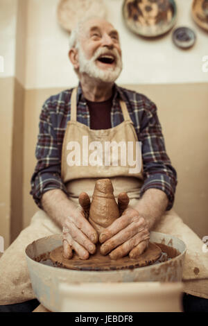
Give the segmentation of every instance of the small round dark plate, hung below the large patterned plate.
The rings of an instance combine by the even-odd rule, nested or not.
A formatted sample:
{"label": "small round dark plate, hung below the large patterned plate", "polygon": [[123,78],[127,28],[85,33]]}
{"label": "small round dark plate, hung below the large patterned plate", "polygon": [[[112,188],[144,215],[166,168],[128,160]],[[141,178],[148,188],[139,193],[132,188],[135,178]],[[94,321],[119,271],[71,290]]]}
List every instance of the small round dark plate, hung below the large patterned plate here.
{"label": "small round dark plate, hung below the large patterned plate", "polygon": [[196,42],[196,34],[189,27],[179,27],[173,31],[173,42],[182,49],[189,49]]}

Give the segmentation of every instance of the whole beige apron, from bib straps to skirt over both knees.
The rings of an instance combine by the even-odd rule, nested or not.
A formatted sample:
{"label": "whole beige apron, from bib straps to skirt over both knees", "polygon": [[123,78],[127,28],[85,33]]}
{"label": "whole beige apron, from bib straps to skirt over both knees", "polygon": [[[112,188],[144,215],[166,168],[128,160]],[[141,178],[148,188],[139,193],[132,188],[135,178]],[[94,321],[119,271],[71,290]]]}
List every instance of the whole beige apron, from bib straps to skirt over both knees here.
{"label": "whole beige apron, from bib straps to skirt over both knees", "polygon": [[[130,205],[136,205],[142,185],[141,173],[128,174],[130,166],[68,166],[69,142],[83,141],[83,136],[91,141],[137,141],[135,128],[128,114],[125,103],[120,102],[124,121],[107,130],[91,130],[76,121],[76,90],[71,97],[71,121],[67,124],[62,146],[62,178],[69,191],[69,197],[78,205],[80,192],[86,191],[90,197],[94,183],[99,178],[110,178],[114,186],[115,197],[126,191],[130,197]],[[68,148],[68,149],[67,149]],[[82,158],[82,157],[81,157]],[[111,161],[112,163],[112,161]],[[83,169],[84,168],[84,169]],[[141,167],[142,168],[142,167]],[[187,245],[183,281],[184,292],[208,298],[208,259],[202,252],[200,238],[182,222],[173,209],[166,212],[155,231],[172,234]],[[62,232],[44,211],[39,210],[32,218],[31,225],[24,229],[19,237],[10,245],[0,259],[0,304],[13,304],[35,298],[31,287],[24,250],[29,243],[51,234]]]}

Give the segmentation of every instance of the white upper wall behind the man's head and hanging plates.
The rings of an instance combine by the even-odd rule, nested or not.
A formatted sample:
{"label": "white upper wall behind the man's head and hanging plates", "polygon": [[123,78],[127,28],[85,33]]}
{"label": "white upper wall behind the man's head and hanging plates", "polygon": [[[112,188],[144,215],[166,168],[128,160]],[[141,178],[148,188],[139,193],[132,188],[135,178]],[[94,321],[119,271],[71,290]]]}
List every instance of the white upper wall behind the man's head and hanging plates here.
{"label": "white upper wall behind the man's head and hanging plates", "polygon": [[[202,57],[208,55],[208,33],[191,18],[192,0],[177,0],[177,23],[196,31],[192,49],[177,49],[171,33],[160,40],[144,40],[125,27],[121,15],[122,0],[105,0],[107,18],[118,28],[123,49],[120,84],[206,82]],[[56,19],[58,0],[28,0],[26,47],[26,88],[71,87],[76,74],[67,57],[69,35]]]}

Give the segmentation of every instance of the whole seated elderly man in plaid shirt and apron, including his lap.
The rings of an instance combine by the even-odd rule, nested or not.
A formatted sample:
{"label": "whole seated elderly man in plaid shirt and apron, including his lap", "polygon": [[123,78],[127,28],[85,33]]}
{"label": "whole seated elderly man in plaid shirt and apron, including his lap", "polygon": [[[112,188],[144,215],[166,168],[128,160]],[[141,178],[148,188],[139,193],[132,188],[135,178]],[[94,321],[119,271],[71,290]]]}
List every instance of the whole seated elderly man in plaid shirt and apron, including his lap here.
{"label": "whole seated elderly man in plaid shirt and apron, including his lap", "polygon": [[[0,304],[34,298],[24,258],[24,249],[31,241],[63,231],[65,257],[70,259],[73,251],[80,259],[94,254],[98,234],[78,205],[78,196],[86,191],[92,198],[95,181],[101,178],[112,180],[116,197],[126,191],[130,198],[128,208],[100,234],[106,255],[138,257],[148,246],[153,229],[178,236],[182,233],[181,237],[189,230],[189,239],[184,237],[184,241],[191,241],[192,231],[171,209],[176,172],[166,154],[157,108],[143,94],[114,83],[122,70],[118,32],[104,19],[85,19],[71,33],[69,59],[80,83],[75,89],[51,96],[43,105],[31,189],[41,210],[1,258],[0,266],[15,268],[19,261],[21,266],[14,275],[9,271],[10,281],[5,277],[8,271],[0,273],[4,277]],[[141,170],[130,173],[129,162],[114,165],[112,158],[107,166],[85,160],[80,164],[76,153],[79,162],[71,162],[70,142],[77,141],[84,156],[88,149],[82,143],[85,137],[90,144],[123,141],[135,146],[141,141]],[[18,275],[23,282],[14,287],[12,277]]]}

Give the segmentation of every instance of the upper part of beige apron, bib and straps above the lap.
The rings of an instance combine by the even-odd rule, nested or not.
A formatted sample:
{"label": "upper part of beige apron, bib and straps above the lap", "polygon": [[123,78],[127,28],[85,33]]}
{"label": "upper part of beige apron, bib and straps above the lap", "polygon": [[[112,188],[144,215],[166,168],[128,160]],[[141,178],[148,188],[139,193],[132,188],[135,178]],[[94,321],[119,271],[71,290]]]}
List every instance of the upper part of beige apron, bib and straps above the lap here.
{"label": "upper part of beige apron, bib and straps above the lap", "polygon": [[[78,203],[80,192],[86,191],[86,189],[89,197],[92,197],[95,181],[101,178],[110,178],[112,180],[115,197],[117,197],[121,191],[126,191],[130,198],[139,198],[140,188],[143,183],[142,160],[140,164],[141,172],[131,174],[129,170],[132,166],[128,164],[128,160],[126,160],[125,166],[121,166],[121,156],[118,157],[118,164],[116,164],[116,162],[114,162],[114,157],[112,157],[112,155],[107,155],[107,157],[110,157],[110,162],[108,166],[104,164],[106,155],[105,144],[107,144],[107,142],[110,143],[114,141],[115,144],[119,144],[121,141],[125,144],[132,142],[132,144],[134,144],[133,153],[136,152],[135,145],[138,142],[137,134],[125,103],[120,101],[123,113],[122,123],[110,129],[92,130],[83,123],[76,121],[76,90],[77,89],[73,89],[71,94],[71,120],[67,123],[67,130],[64,135],[62,146],[62,180],[67,187],[70,198]],[[86,151],[87,148],[85,146],[86,141],[83,141],[83,139],[86,139],[88,145],[97,144],[97,146],[101,146],[101,153],[98,155],[101,162],[100,165],[93,166],[89,164],[90,153],[88,155],[88,160],[85,160],[86,155],[83,155],[83,151]],[[69,166],[67,163],[67,157],[69,157],[69,150],[67,150],[67,148],[69,148],[71,141],[77,141],[80,145],[81,166]],[[77,157],[76,162],[78,162],[78,159],[79,157]],[[86,163],[84,164],[86,165],[83,165],[85,161]],[[113,162],[116,165],[113,166]]]}

